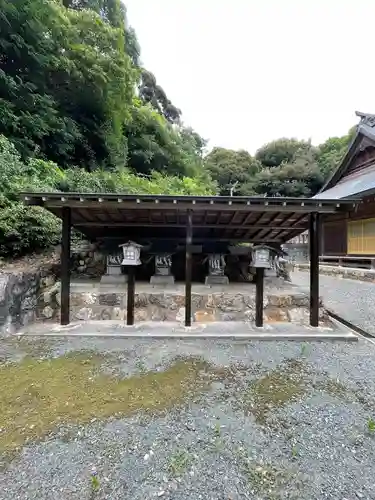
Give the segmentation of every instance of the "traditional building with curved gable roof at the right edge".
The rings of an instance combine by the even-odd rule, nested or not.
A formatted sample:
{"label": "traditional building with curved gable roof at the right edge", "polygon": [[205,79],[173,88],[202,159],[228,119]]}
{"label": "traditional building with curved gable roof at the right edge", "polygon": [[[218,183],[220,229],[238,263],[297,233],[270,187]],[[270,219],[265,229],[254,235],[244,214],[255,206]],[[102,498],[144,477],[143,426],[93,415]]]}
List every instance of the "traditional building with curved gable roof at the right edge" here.
{"label": "traditional building with curved gable roof at the right edge", "polygon": [[356,114],[360,122],[345,156],[314,197],[362,200],[345,214],[327,217],[322,228],[321,260],[344,257],[355,266],[375,257],[375,115]]}

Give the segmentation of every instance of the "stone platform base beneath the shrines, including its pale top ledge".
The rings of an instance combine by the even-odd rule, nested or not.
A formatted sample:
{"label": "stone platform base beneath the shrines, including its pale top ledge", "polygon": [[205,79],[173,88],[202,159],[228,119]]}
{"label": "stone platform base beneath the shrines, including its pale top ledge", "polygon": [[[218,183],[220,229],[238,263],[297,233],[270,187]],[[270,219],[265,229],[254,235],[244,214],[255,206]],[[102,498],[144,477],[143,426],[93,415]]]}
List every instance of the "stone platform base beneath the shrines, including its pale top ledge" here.
{"label": "stone platform base beneath the shrines, including its pale top ledge", "polygon": [[[154,287],[146,283],[135,286],[135,322],[172,321],[182,323],[185,318],[184,285]],[[45,294],[48,297],[48,294]],[[49,319],[58,320],[59,301],[50,297],[48,306],[53,310]],[[126,285],[102,285],[99,283],[71,284],[71,320],[126,320]],[[230,284],[205,286],[193,284],[192,319],[196,323],[216,321],[245,321],[255,319],[255,286],[253,284]],[[320,320],[328,324],[328,315],[320,307]],[[299,288],[283,284],[281,287],[267,285],[264,290],[264,321],[271,323],[309,324],[309,296]]]}

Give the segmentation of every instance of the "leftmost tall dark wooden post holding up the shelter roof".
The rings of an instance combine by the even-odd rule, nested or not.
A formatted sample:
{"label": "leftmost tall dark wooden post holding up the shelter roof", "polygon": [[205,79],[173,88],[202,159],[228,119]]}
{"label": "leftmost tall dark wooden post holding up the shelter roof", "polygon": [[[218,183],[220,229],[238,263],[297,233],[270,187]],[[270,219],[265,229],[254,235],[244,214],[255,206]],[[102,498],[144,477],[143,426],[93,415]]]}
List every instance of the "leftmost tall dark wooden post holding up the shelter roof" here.
{"label": "leftmost tall dark wooden post holding up the shelter roof", "polygon": [[69,207],[62,209],[61,238],[61,313],[62,325],[70,323],[70,233],[71,212]]}

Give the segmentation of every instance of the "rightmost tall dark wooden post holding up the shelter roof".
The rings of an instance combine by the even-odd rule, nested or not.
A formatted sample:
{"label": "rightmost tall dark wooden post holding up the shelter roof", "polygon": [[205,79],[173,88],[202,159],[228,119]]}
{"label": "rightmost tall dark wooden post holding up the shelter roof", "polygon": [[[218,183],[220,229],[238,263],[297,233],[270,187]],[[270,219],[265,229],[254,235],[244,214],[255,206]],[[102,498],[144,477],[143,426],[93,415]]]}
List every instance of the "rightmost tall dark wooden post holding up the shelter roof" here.
{"label": "rightmost tall dark wooden post holding up the shelter roof", "polygon": [[310,214],[310,325],[319,326],[319,214]]}

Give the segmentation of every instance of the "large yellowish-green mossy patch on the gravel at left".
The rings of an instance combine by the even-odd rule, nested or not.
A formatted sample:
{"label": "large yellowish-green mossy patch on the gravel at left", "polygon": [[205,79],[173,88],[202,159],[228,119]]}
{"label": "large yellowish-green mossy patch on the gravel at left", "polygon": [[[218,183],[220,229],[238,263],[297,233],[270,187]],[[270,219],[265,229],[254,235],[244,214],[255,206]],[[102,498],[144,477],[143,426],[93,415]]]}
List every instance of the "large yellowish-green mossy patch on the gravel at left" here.
{"label": "large yellowish-green mossy patch on the gravel at left", "polygon": [[12,454],[64,423],[167,410],[208,389],[215,376],[207,363],[186,359],[119,378],[101,370],[106,361],[80,352],[0,366],[0,452]]}

